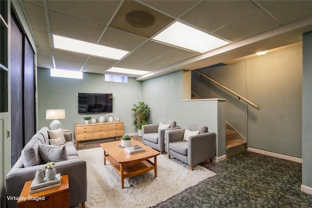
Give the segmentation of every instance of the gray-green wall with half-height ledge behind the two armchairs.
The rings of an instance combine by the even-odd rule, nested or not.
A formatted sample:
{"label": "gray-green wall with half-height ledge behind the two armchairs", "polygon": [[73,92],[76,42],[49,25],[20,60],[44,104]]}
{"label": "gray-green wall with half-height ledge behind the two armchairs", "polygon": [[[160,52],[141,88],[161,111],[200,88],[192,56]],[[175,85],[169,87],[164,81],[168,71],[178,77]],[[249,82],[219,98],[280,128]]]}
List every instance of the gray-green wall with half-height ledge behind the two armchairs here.
{"label": "gray-green wall with half-height ledge behind the two armchairs", "polygon": [[190,72],[181,70],[143,81],[143,100],[151,108],[150,122],[175,120],[182,128],[190,124],[205,125],[209,132],[217,134],[216,155],[225,155],[225,101],[183,101],[183,82],[189,82],[183,80],[183,73]]}

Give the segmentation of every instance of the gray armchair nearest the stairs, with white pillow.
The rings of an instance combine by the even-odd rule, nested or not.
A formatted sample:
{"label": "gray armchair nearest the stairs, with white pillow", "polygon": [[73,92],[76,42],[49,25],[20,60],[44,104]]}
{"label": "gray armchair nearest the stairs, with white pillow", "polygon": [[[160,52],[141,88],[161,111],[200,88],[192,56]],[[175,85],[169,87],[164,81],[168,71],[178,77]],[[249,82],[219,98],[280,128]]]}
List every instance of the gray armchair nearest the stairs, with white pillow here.
{"label": "gray armchair nearest the stairs, with white pillow", "polygon": [[190,170],[198,163],[208,161],[212,163],[215,157],[216,134],[208,132],[208,127],[191,125],[190,131],[199,131],[199,134],[190,136],[188,141],[183,140],[185,129],[166,132],[166,152],[170,156],[188,164]]}

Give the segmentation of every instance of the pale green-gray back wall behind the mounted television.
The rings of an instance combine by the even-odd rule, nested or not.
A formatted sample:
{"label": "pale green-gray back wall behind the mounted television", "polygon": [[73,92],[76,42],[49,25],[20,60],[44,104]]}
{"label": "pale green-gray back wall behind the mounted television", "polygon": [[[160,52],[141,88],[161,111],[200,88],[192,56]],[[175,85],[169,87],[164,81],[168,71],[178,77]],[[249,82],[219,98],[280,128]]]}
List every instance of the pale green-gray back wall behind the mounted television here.
{"label": "pale green-gray back wall behind the mounted television", "polygon": [[113,113],[88,114],[92,118],[117,116],[124,122],[125,133],[134,133],[131,108],[142,101],[142,83],[128,77],[128,83],[106,82],[103,75],[84,73],[83,79],[51,77],[49,69],[38,68],[38,126],[48,126],[47,109],[65,109],[66,118],[60,119],[62,129],[75,132],[75,123],[84,123],[85,114],[78,113],[79,93],[112,93]]}

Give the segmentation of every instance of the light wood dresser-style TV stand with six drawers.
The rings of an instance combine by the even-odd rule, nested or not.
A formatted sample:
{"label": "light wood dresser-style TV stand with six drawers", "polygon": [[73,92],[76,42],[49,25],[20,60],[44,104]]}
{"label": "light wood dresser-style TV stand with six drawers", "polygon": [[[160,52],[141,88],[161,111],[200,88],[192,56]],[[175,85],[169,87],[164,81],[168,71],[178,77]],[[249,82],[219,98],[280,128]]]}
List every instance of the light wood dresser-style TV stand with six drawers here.
{"label": "light wood dresser-style TV stand with six drawers", "polygon": [[79,141],[120,137],[124,134],[123,122],[104,122],[91,124],[75,124],[77,147]]}

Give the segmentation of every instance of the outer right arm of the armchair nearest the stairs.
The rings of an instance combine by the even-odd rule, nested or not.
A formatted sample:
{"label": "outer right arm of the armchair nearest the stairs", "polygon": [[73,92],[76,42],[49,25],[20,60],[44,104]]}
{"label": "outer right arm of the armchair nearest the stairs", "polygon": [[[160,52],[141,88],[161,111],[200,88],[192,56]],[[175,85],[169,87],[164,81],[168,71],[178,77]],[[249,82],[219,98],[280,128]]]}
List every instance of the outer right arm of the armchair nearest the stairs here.
{"label": "outer right arm of the armchair nearest the stairs", "polygon": [[193,166],[215,157],[216,134],[201,133],[190,136],[188,141],[188,164]]}

